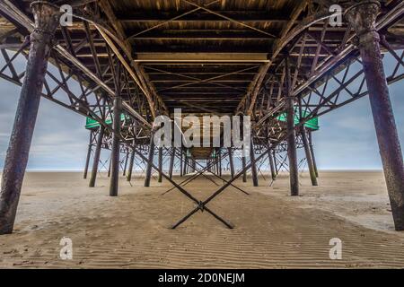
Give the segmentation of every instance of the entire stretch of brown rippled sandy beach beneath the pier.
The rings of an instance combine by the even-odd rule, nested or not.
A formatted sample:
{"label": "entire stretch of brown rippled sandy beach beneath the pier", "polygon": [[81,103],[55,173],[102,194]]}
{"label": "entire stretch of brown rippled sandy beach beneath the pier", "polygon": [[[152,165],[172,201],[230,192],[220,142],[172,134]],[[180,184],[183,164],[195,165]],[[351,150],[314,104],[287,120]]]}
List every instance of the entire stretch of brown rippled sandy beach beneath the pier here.
{"label": "entire stretch of brown rippled sandy beach beneath the pier", "polygon": [[[180,178],[175,178],[179,182]],[[188,186],[205,199],[223,183],[198,179]],[[319,187],[301,176],[301,195],[288,196],[288,178],[269,186],[237,181],[208,207],[235,225],[228,230],[208,213],[196,213],[178,190],[143,179],[87,187],[81,173],[28,173],[15,232],[0,236],[6,268],[383,268],[404,267],[404,232],[393,230],[381,172],[321,172]],[[73,240],[73,260],[59,258],[60,239]],[[329,259],[329,239],[342,240],[342,260]]]}

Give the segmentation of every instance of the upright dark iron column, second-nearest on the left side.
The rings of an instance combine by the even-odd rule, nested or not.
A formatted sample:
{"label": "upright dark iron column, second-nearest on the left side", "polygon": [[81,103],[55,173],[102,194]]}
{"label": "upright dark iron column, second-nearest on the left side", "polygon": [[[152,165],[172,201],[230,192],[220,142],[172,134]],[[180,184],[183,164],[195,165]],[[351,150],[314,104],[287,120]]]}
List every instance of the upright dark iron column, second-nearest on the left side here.
{"label": "upright dark iron column, second-nearest on the left side", "polygon": [[[119,93],[119,89],[117,92]],[[110,196],[118,196],[121,110],[122,98],[118,94],[114,97],[112,151],[110,153]]]}

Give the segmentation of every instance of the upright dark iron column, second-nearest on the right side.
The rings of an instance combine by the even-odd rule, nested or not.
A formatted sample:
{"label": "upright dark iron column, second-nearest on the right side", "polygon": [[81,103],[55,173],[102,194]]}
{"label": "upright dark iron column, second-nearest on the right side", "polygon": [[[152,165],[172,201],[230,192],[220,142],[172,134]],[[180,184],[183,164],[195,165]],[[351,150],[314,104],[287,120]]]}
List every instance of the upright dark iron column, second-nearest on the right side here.
{"label": "upright dark iron column, second-nearest on the right side", "polygon": [[299,175],[297,168],[296,133],[294,131],[294,97],[291,94],[291,74],[289,57],[285,59],[285,98],[287,113],[287,157],[289,158],[289,178],[291,196],[299,196]]}

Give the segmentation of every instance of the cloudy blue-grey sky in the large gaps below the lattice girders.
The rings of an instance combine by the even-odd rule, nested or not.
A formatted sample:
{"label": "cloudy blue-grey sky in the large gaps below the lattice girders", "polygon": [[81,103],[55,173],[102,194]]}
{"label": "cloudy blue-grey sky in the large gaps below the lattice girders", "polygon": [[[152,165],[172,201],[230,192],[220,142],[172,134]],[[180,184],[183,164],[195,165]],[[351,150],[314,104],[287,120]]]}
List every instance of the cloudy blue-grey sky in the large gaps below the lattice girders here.
{"label": "cloudy blue-grey sky in the large gaps below the lattice girders", "polygon": [[[403,72],[401,68],[401,73]],[[404,81],[391,85],[391,101],[404,144]],[[20,87],[0,79],[0,170],[4,165]],[[85,118],[42,99],[31,145],[29,170],[83,170],[89,133]],[[320,118],[313,133],[316,159],[323,170],[382,168],[368,97]]]}

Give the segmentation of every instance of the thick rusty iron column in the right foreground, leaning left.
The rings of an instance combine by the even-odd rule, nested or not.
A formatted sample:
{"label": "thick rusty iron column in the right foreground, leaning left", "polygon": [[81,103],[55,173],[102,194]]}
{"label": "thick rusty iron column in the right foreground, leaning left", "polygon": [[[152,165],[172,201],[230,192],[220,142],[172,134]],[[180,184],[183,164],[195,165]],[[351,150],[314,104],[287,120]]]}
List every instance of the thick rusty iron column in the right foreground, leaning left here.
{"label": "thick rusty iron column in the right foreground, leaning left", "polygon": [[346,18],[356,31],[357,44],[364,65],[364,76],[369,91],[394,225],[396,230],[404,230],[404,164],[384,74],[380,36],[375,29],[379,11],[378,1],[362,1],[347,10]]}

